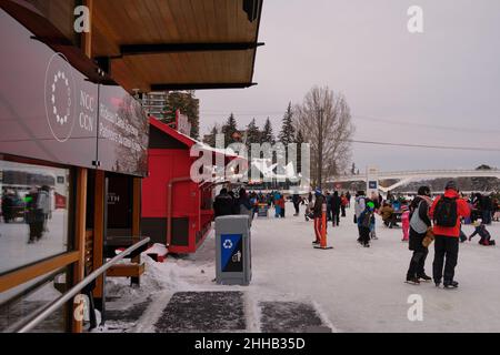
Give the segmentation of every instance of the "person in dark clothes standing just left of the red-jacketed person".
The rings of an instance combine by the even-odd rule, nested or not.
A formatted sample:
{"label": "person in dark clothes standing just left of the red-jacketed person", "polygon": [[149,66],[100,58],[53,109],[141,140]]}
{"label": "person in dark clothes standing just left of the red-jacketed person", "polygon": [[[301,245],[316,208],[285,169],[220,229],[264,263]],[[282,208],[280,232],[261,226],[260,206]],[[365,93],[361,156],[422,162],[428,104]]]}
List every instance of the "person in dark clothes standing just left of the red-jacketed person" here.
{"label": "person in dark clothes standing just left of the red-jacketed person", "polygon": [[407,283],[419,285],[420,280],[431,281],[426,275],[426,260],[429,248],[424,245],[427,231],[432,225],[429,209],[432,205],[431,191],[428,186],[420,186],[417,197],[410,204],[410,239],[408,248],[413,252],[407,272]]}

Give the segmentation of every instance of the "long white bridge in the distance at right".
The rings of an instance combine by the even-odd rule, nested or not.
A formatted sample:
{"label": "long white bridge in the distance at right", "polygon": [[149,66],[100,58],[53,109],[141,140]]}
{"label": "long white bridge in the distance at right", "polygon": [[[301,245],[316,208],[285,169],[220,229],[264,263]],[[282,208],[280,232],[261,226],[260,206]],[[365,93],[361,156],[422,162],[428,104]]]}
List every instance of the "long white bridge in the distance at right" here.
{"label": "long white bridge in the distance at right", "polygon": [[[392,191],[399,186],[403,186],[411,181],[419,180],[431,180],[440,178],[498,178],[500,179],[500,170],[420,170],[420,171],[396,171],[396,172],[379,172],[380,180],[398,180],[397,183],[382,187],[379,186],[380,191],[388,192]],[[367,174],[359,175],[342,175],[337,176],[332,180],[327,181],[328,183],[342,183],[342,182],[354,182],[354,181],[367,181]]]}

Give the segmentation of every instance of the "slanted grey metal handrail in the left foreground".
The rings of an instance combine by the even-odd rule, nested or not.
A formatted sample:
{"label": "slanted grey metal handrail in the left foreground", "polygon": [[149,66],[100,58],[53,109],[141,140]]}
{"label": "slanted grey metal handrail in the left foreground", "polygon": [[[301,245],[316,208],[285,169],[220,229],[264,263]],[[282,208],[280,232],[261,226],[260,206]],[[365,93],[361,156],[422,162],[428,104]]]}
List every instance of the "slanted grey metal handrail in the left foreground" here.
{"label": "slanted grey metal handrail in the left foreground", "polygon": [[40,308],[36,315],[33,315],[29,321],[21,320],[11,327],[9,327],[4,333],[27,333],[34,328],[37,325],[39,325],[41,322],[43,322],[52,312],[57,311],[59,307],[63,306],[64,303],[70,301],[72,297],[74,297],[80,291],[82,291],[88,284],[90,284],[92,281],[98,278],[100,275],[102,275],[108,268],[117,264],[120,260],[126,257],[127,255],[131,254],[139,247],[143,246],[144,244],[149,243],[150,237],[146,237],[141,240],[140,242],[133,244],[129,248],[124,250],[113,258],[111,258],[109,262],[107,262],[101,267],[97,268],[92,273],[90,273],[87,277],[84,277],[81,282],[79,282],[77,285],[74,285],[70,291],[61,295],[59,298],[56,298],[48,305]]}

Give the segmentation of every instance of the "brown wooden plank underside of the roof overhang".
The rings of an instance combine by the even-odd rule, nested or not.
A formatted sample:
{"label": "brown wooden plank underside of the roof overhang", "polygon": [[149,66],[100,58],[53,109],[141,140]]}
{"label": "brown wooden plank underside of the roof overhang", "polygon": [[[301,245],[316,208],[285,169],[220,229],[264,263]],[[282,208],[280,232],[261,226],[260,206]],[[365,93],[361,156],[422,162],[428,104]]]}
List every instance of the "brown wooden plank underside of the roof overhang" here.
{"label": "brown wooden plank underside of the roof overhang", "polygon": [[251,87],[262,0],[94,0],[92,57],[132,92]]}

